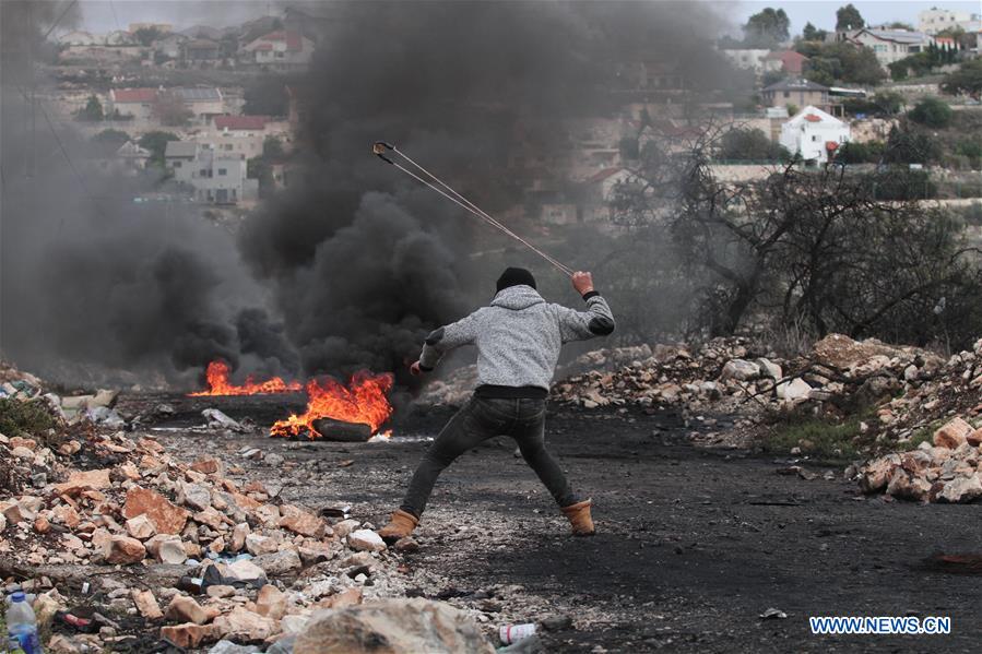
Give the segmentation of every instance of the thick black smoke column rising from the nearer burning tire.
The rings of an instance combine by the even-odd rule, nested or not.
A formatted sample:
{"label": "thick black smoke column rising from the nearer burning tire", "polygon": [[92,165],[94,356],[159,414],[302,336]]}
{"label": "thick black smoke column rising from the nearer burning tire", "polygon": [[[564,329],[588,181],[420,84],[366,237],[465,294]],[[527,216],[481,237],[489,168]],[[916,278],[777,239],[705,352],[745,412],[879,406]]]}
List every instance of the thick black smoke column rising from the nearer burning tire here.
{"label": "thick black smoke column rising from the nearer burning tire", "polygon": [[624,62],[663,60],[691,83],[713,83],[698,35],[714,21],[698,3],[318,10],[331,12],[331,27],[292,87],[303,176],[240,237],[307,373],[401,368],[427,330],[492,295],[498,269],[521,259],[547,272],[521,250],[476,265],[473,251],[514,243],[370,156],[372,141],[394,142],[495,212],[520,202],[536,176],[561,177],[564,120],[616,115]]}

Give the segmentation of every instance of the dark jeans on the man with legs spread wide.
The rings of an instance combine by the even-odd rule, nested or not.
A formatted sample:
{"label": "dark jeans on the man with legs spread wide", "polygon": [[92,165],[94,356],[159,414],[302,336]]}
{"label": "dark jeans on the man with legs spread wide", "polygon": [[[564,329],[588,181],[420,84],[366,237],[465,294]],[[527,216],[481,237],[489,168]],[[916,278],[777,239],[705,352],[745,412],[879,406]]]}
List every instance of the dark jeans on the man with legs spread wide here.
{"label": "dark jeans on the man with legs spread wide", "polygon": [[403,511],[423,515],[437,477],[453,460],[496,436],[510,436],[560,507],[579,501],[556,460],[545,449],[545,400],[472,397],[429,445],[413,475]]}

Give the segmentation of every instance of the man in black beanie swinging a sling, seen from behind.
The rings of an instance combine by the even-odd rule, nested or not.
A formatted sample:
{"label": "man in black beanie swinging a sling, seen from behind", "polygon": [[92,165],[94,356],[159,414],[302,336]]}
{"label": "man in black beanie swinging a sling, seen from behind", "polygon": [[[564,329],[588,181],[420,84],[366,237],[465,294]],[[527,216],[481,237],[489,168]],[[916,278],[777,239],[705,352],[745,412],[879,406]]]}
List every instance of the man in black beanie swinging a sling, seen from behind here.
{"label": "man in black beanie swinging a sling, seen from behind", "polygon": [[576,273],[572,286],[587,302],[585,311],[547,304],[535,290],[532,273],[509,267],[498,278],[498,293],[489,307],[427,336],[419,360],[410,368],[413,374],[429,372],[447,352],[474,344],[480,385],[423,456],[402,506],[379,532],[382,538],[392,542],[409,536],[443,468],[495,436],[510,436],[518,442],[525,462],[569,519],[572,533],[593,535],[592,501],[581,501],[573,494],[546,451],[544,438],[545,401],[560,346],[614,331],[611,308],[593,289],[590,273]]}

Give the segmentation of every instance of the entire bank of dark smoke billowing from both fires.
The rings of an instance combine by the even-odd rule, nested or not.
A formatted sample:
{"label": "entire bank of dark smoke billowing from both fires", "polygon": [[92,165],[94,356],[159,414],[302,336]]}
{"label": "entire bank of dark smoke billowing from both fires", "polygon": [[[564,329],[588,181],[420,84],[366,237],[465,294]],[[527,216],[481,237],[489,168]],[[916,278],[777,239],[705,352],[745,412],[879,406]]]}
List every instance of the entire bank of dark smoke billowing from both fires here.
{"label": "entire bank of dark smoke billowing from both fires", "polygon": [[[331,27],[309,74],[292,82],[301,165],[235,239],[192,207],[138,207],[130,199],[145,189],[73,170],[61,145],[81,160],[85,144],[68,130],[59,144],[40,118],[29,141],[23,98],[4,91],[5,356],[36,370],[70,362],[185,381],[215,357],[277,373],[399,370],[429,330],[486,301],[506,265],[531,264],[546,292],[568,292],[541,261],[370,156],[372,141],[397,143],[494,213],[543,170],[561,177],[563,120],[615,116],[617,62],[683,62],[694,85],[719,81],[702,3],[313,10],[330,11]],[[24,174],[32,152],[46,156],[44,176]]]}

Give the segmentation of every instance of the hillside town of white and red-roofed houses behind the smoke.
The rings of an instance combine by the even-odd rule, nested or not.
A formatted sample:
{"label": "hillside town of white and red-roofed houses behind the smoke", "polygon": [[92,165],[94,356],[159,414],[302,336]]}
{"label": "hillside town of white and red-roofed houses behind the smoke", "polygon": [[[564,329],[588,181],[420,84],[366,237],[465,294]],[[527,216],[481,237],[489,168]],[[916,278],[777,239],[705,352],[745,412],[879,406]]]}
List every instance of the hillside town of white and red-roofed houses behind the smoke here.
{"label": "hillside town of white and red-roofed houses behind the smoke", "polygon": [[[296,84],[317,44],[330,38],[330,8],[320,11],[327,15],[287,8],[224,28],[133,23],[106,34],[56,31],[56,52],[45,66],[58,83],[42,92],[43,102],[55,120],[72,122],[95,144],[90,156],[108,175],[155,175],[158,197],[213,213],[249,211],[289,183],[307,110]],[[760,25],[748,24],[743,39],[713,45],[742,73],[738,85],[697,99],[702,120],[734,132],[714,153],[727,178],[759,178],[790,158],[872,165],[901,119],[912,118],[914,130],[954,135],[978,110],[971,71],[979,14],[935,8],[922,11],[916,26],[865,25],[860,16],[835,31],[809,24],[791,35],[786,17],[765,24],[773,17],[768,12],[774,13],[758,14]],[[605,115],[563,124],[566,138],[556,142],[568,145],[566,165],[533,176],[507,215],[537,225],[610,222],[615,189],[637,181],[646,141],[683,134],[691,123],[694,84],[683,62],[617,68],[612,93],[623,99]],[[974,82],[946,86],[946,76],[962,69]],[[916,120],[919,107],[932,121]],[[982,194],[982,146],[969,140],[937,150],[902,162],[933,170],[916,188],[920,197],[971,204]]]}

